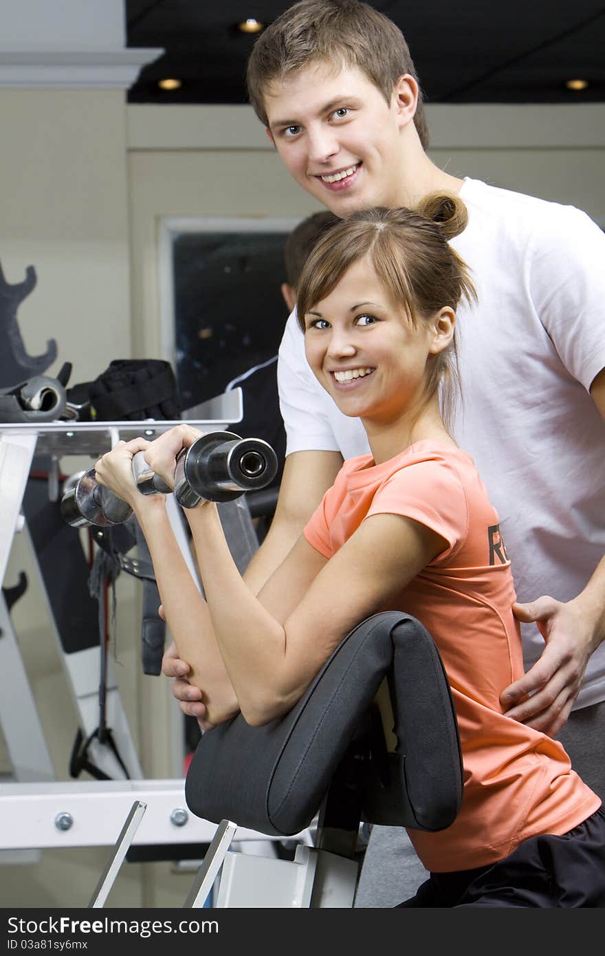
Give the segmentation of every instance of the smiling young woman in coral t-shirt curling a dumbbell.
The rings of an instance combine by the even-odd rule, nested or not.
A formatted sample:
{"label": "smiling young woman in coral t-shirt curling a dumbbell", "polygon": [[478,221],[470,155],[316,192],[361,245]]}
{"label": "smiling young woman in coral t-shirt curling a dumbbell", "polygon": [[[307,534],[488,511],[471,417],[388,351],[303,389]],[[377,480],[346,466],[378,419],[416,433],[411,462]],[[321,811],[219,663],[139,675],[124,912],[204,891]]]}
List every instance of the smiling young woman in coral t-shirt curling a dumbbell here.
{"label": "smiling young woman in coral t-shirt curling a dumbbell", "polygon": [[431,877],[405,905],[605,905],[599,798],[560,744],[504,716],[499,702],[523,673],[510,565],[486,489],[446,427],[455,309],[474,295],[447,242],[463,228],[463,203],[432,197],[419,212],[356,213],[313,250],[297,299],[307,359],[340,411],[361,419],[372,453],[345,463],[258,596],[235,568],[216,508],[203,503],[186,513],[206,603],[162,497],[134,486],[136,451],[169,480],[194,429],[120,443],[97,477],[137,513],[208,722],[241,709],[260,725],[286,712],[343,636],[380,610],[405,610],[433,635],[458,715],[465,790],[452,826],[409,831]]}

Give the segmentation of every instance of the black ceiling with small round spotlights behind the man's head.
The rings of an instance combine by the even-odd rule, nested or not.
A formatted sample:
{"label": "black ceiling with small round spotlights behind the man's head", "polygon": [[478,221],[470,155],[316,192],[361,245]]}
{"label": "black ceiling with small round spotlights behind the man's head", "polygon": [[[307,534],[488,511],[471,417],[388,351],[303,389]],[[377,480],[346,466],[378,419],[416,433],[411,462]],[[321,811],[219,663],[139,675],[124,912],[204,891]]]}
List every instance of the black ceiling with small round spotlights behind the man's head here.
{"label": "black ceiling with small round spotlights behind the man's head", "polygon": [[[126,0],[130,47],[162,47],[128,94],[139,103],[245,103],[254,35],[236,25],[270,23],[283,0]],[[428,102],[605,100],[602,0],[377,0],[409,43]],[[163,77],[182,81],[164,92]],[[571,78],[589,81],[569,91]]]}

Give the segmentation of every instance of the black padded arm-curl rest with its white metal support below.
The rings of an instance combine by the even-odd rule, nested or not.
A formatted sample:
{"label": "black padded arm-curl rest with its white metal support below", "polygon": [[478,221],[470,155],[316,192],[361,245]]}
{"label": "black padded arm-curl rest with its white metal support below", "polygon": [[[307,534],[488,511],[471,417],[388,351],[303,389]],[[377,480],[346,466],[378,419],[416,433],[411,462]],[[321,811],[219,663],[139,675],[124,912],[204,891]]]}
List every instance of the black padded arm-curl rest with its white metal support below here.
{"label": "black padded arm-curl rest with its white metal support below", "polygon": [[[217,906],[350,906],[359,823],[443,830],[462,792],[458,725],[435,642],[409,615],[374,615],[286,715],[254,728],[240,714],[203,734],[185,796],[218,827],[184,905],[203,905],[222,867]],[[299,845],[293,861],[227,853],[238,825],[288,837],[315,817],[315,845]]]}

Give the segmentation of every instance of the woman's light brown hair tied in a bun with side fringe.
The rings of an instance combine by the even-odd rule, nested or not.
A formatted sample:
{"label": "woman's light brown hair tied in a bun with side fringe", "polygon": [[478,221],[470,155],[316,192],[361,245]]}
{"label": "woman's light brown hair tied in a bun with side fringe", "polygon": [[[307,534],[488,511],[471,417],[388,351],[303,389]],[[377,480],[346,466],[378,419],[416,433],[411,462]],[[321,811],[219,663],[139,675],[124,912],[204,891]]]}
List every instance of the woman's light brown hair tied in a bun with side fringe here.
{"label": "woman's light brown hair tied in a bun with side fringe", "polygon": [[[296,312],[301,329],[313,306],[366,256],[414,326],[444,306],[455,310],[461,299],[474,300],[468,268],[447,241],[462,232],[466,222],[463,201],[445,194],[425,197],[417,210],[377,206],[338,220],[314,247],[300,276]],[[424,401],[440,386],[443,419],[449,424],[458,388],[456,337],[431,358]]]}

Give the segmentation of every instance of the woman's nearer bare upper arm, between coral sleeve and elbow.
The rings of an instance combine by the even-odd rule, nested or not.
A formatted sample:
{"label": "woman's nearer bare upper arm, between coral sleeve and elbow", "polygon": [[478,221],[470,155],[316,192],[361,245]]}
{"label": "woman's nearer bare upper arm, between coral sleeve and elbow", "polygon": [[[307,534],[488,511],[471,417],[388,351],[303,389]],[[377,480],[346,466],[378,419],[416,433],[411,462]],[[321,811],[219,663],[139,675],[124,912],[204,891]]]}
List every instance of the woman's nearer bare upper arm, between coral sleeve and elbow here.
{"label": "woman's nearer bare upper arm, between coral sleeve and elbow", "polygon": [[380,611],[447,547],[440,534],[411,518],[366,518],[313,577],[285,620],[288,670],[296,684],[292,698],[359,621]]}

